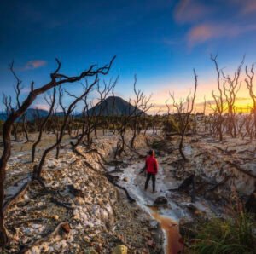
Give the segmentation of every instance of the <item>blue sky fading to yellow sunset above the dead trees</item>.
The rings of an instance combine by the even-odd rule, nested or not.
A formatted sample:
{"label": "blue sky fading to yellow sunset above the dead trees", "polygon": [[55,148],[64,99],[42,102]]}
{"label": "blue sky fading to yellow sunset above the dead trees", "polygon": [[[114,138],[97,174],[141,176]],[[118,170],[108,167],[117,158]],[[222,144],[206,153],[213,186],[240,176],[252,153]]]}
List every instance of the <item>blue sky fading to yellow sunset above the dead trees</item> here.
{"label": "blue sky fading to yellow sunset above the dead trees", "polygon": [[[14,95],[11,61],[24,87],[32,80],[39,87],[55,70],[55,57],[62,73],[77,75],[117,55],[108,77],[102,77],[119,74],[117,95],[133,96],[136,74],[137,88],[153,94],[152,113],[165,111],[169,92],[181,98],[193,89],[195,68],[200,110],[204,96],[211,101],[217,89],[211,54],[218,53],[220,68],[230,75],[243,55],[248,66],[256,61],[255,0],[13,0],[1,1],[0,17],[1,94]],[[79,84],[67,88],[73,94],[82,89]],[[250,103],[248,96],[243,82],[240,106]],[[33,107],[45,108],[42,96]]]}

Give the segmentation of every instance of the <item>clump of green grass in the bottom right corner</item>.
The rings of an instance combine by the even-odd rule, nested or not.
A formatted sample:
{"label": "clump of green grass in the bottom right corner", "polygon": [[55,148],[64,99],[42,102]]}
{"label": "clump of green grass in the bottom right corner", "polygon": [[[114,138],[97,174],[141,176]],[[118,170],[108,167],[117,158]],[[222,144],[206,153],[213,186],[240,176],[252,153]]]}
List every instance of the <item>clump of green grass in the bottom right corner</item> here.
{"label": "clump of green grass in the bottom right corner", "polygon": [[255,215],[238,212],[230,218],[201,221],[192,229],[188,253],[253,254],[256,243]]}

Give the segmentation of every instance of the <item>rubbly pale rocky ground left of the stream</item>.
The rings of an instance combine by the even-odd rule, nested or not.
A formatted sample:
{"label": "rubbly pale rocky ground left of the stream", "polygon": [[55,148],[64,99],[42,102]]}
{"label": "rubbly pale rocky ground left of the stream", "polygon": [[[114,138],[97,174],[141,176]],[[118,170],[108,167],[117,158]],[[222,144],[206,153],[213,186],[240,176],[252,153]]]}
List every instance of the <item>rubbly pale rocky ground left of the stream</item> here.
{"label": "rubbly pale rocky ground left of the stream", "polygon": [[[102,137],[94,146],[110,158],[116,141]],[[108,182],[97,153],[83,147],[79,152],[85,159],[68,147],[59,159],[51,154],[44,166],[46,188],[32,182],[23,198],[10,205],[10,241],[3,253],[111,253],[118,245],[128,253],[160,253],[162,233],[152,218]],[[7,186],[14,187],[7,188],[7,199],[29,179],[28,159],[26,152],[10,159]]]}

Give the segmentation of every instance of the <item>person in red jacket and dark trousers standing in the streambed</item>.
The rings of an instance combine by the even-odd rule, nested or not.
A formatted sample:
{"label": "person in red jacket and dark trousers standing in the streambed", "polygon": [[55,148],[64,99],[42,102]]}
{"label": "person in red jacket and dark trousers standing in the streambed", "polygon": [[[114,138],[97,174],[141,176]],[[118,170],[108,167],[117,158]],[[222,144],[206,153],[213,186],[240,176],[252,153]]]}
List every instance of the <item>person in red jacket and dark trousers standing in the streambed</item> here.
{"label": "person in red jacket and dark trousers standing in the streambed", "polygon": [[157,159],[154,158],[154,150],[149,151],[149,156],[146,159],[145,169],[147,171],[147,179],[145,182],[145,190],[148,188],[148,182],[152,178],[153,192],[155,191],[155,175],[158,171]]}

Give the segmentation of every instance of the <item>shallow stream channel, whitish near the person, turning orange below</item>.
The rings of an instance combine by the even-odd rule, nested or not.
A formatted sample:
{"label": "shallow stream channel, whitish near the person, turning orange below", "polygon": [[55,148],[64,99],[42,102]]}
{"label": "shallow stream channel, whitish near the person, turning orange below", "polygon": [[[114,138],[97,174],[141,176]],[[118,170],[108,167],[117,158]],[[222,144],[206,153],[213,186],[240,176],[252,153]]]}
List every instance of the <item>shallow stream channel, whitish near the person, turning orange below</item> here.
{"label": "shallow stream channel, whitish near the person, turning orange below", "polygon": [[[183,211],[179,211],[171,200],[168,201],[168,205],[170,205],[169,208],[157,208],[152,206],[154,205],[154,199],[158,196],[165,195],[170,186],[166,186],[166,183],[163,181],[165,176],[162,174],[162,168],[160,167],[160,174],[158,174],[157,177],[158,191],[156,193],[151,192],[151,182],[149,182],[148,191],[144,191],[145,177],[138,174],[142,166],[143,164],[131,165],[125,168],[123,172],[115,173],[114,175],[120,177],[121,181],[119,183],[128,190],[132,198],[136,199],[137,205],[144,211],[147,211],[155,221],[160,223],[160,228],[162,228],[165,234],[165,253],[177,254],[179,251],[183,250],[183,241],[179,234],[177,223],[178,219],[182,217]],[[109,170],[111,171],[113,168]],[[122,181],[124,178],[125,181]]]}

